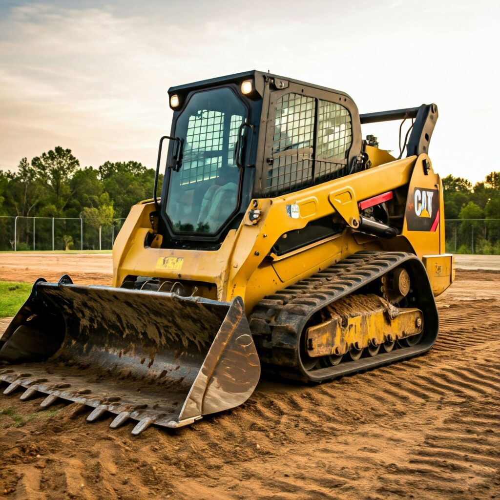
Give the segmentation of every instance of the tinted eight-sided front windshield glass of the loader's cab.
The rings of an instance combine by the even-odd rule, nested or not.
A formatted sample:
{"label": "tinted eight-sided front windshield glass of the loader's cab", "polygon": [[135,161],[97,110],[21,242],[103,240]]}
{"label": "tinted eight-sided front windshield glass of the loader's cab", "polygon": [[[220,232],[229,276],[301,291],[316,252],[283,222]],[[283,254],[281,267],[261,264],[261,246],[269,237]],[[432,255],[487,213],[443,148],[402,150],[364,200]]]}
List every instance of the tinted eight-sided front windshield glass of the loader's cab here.
{"label": "tinted eight-sided front windshield glass of the loader's cab", "polygon": [[234,149],[246,108],[229,88],[195,93],[177,119],[184,140],[179,171],[170,171],[166,214],[174,232],[215,233],[236,209],[240,169]]}

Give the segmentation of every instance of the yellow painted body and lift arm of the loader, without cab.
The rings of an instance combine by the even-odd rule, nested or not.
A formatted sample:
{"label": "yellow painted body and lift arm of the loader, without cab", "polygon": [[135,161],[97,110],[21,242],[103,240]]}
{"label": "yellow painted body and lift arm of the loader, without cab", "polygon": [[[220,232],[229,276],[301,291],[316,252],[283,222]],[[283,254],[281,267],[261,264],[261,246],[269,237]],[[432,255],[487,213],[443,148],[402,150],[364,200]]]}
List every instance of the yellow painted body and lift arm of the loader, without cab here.
{"label": "yellow painted body and lift arm of the loader, without cab", "polygon": [[[241,296],[249,314],[264,296],[356,251],[382,249],[416,254],[426,265],[434,295],[442,293],[453,280],[453,260],[444,254],[442,185],[429,157],[421,154],[395,160],[387,151],[369,146],[367,152],[372,164],[367,170],[275,198],[252,200],[248,212],[259,210],[258,219],[252,223],[245,217],[237,229],[229,231],[218,250],[160,248],[160,235],[145,247],[146,235],[152,233],[149,214],[154,204],[146,200],[132,206],[113,247],[113,285],[119,286],[127,275],[196,281],[201,283],[197,294],[206,298],[230,301]],[[355,230],[359,201],[392,190],[404,204],[415,186],[438,190],[435,230],[410,231],[406,217],[401,234],[392,239]],[[298,205],[297,218],[289,216],[286,205]],[[335,213],[347,223],[341,233],[285,255],[272,253],[273,244],[283,234]]]}

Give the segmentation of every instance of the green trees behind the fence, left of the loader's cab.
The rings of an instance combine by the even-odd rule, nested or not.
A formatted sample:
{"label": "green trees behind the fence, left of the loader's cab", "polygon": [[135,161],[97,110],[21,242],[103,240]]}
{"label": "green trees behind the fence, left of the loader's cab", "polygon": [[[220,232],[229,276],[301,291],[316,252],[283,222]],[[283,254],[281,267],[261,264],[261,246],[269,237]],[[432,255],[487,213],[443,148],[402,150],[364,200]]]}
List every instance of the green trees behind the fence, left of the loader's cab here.
{"label": "green trees behind the fence, left of the loader's cab", "polygon": [[[154,170],[138,161],[106,161],[96,168],[80,168],[71,149],[57,146],[31,161],[22,158],[14,172],[0,170],[0,215],[81,217],[89,234],[95,234],[91,229],[110,226],[113,219],[126,217],[131,205],[150,198],[153,180]],[[74,228],[71,231],[75,235],[63,234],[70,232],[68,224],[63,221],[57,225],[58,248],[64,239],[76,243],[79,237]],[[1,250],[12,246],[11,225],[11,221],[0,218]],[[31,226],[29,220],[19,219],[18,249],[30,248]],[[95,241],[85,246],[95,247]]]}

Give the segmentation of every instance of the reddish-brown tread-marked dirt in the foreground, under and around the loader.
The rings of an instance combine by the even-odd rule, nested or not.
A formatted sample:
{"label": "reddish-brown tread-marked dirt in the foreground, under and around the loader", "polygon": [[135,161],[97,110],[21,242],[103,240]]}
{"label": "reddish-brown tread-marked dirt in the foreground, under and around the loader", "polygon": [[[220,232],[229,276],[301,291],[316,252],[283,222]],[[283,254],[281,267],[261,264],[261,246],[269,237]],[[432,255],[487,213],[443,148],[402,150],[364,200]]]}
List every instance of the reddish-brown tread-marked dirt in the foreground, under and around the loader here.
{"label": "reddish-brown tread-marked dirt in the foreground, under and around the loader", "polygon": [[0,395],[0,494],[500,498],[499,279],[457,271],[423,356],[320,385],[263,379],[242,406],[177,431],[134,437],[74,403],[38,411],[40,398]]}

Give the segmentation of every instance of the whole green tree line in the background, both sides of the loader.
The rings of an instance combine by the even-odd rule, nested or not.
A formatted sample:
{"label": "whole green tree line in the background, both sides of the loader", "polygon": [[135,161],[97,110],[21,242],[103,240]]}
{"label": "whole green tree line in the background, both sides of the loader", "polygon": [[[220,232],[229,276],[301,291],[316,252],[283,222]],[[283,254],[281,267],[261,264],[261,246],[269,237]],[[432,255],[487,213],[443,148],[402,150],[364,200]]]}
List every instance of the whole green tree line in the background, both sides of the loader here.
{"label": "whole green tree line in the background, both sides of the loader", "polygon": [[[150,198],[153,180],[154,170],[138,161],[105,161],[96,168],[80,168],[70,149],[57,146],[31,161],[22,158],[14,172],[0,170],[0,215],[81,217],[88,229],[85,247],[92,248],[94,229],[109,227],[113,219],[126,217],[134,203]],[[444,177],[442,183],[445,217],[458,219],[446,225],[448,251],[500,253],[500,224],[494,220],[500,218],[500,172],[491,172],[474,185],[453,175]],[[68,242],[79,247],[79,232],[73,228],[73,235],[67,234],[68,224],[57,226],[58,248],[67,248]],[[0,250],[12,247],[11,225],[0,217]],[[31,226],[29,220],[19,222],[19,248],[30,248]]]}

